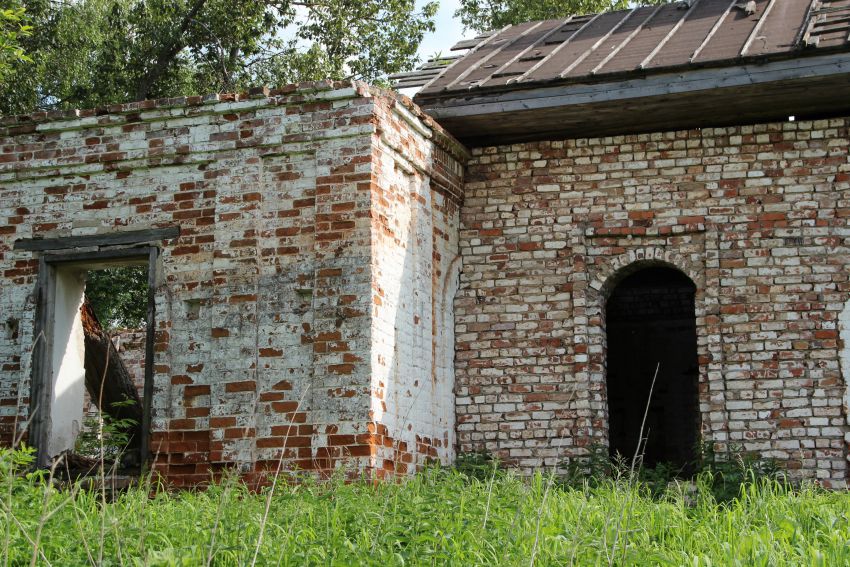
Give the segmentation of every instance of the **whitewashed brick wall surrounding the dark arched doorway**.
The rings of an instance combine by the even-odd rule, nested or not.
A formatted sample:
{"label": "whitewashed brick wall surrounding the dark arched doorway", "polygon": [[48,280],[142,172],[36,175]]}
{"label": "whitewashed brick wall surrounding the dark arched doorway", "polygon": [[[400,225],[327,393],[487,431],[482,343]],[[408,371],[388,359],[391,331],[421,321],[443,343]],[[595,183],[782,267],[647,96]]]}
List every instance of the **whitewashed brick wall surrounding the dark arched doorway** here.
{"label": "whitewashed brick wall surrounding the dark arched doorway", "polygon": [[704,438],[845,486],[848,139],[834,119],[475,149],[459,450],[527,471],[604,446],[605,298],[655,263],[697,286]]}

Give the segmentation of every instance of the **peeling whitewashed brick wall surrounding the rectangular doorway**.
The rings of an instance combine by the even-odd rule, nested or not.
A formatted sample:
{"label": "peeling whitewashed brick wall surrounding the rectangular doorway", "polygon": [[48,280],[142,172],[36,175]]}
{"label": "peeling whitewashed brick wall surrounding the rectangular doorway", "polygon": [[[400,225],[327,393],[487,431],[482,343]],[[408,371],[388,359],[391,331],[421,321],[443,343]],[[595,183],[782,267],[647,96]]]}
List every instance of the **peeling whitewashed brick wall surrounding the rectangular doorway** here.
{"label": "peeling whitewashed brick wall surrounding the rectangular doorway", "polygon": [[[157,266],[157,470],[179,484],[225,467],[253,478],[281,451],[288,467],[381,468],[370,207],[376,101],[389,96],[317,83],[7,120],[0,313],[16,330],[0,336],[4,441],[28,407],[38,269],[13,243],[179,226]],[[433,140],[419,140],[424,155]]]}

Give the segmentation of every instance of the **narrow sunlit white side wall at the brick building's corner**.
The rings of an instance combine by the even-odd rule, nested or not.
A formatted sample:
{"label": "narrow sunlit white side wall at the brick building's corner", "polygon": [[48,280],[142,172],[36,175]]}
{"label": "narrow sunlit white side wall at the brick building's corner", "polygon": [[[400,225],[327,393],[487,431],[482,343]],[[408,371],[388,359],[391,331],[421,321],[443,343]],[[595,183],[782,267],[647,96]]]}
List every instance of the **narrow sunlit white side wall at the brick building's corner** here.
{"label": "narrow sunlit white side wall at the brick building's corner", "polygon": [[[372,417],[387,470],[454,460],[462,170],[415,108],[379,104],[372,185]],[[456,155],[466,151],[443,144]]]}

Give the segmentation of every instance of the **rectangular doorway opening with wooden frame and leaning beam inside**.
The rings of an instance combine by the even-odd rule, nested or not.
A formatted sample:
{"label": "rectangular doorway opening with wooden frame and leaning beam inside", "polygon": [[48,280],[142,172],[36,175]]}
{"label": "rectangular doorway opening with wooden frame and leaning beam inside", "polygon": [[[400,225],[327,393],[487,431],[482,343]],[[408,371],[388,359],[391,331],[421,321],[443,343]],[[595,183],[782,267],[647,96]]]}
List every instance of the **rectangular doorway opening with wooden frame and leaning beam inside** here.
{"label": "rectangular doorway opening with wooden frame and leaning beam inside", "polygon": [[145,246],[41,258],[29,430],[39,466],[63,454],[122,474],[147,463],[157,256]]}

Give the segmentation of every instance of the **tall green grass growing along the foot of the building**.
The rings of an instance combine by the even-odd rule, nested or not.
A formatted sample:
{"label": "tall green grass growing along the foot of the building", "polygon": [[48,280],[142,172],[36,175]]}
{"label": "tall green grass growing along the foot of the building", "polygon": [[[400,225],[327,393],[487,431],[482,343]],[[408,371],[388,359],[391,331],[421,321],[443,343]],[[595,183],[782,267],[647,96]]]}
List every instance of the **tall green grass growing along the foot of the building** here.
{"label": "tall green grass growing along the foot of the building", "polygon": [[660,497],[440,469],[304,480],[278,484],[257,550],[266,497],[234,479],[105,502],[15,474],[15,455],[0,453],[0,565],[250,565],[255,552],[257,565],[850,565],[850,495],[770,480],[728,503],[705,478]]}

